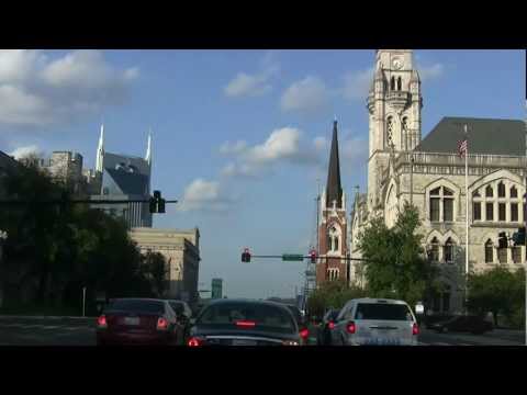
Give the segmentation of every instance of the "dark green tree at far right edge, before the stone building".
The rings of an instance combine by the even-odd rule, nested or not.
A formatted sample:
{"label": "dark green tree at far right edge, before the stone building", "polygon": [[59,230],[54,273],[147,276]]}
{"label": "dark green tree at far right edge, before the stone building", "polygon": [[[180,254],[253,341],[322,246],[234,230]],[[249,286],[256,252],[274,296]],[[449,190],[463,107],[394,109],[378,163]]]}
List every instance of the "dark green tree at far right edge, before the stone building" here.
{"label": "dark green tree at far right edge, before the stone building", "polygon": [[513,325],[525,323],[525,270],[515,272],[497,267],[469,274],[469,309],[484,315],[491,312],[494,325],[503,314]]}

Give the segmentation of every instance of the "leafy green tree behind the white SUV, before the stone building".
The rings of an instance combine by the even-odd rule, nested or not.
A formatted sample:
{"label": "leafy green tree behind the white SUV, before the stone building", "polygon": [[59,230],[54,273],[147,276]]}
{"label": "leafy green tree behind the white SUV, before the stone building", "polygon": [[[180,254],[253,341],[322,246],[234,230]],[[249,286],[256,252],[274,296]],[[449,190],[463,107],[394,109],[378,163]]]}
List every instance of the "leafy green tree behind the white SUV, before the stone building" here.
{"label": "leafy green tree behind the white SUV, before the stone building", "polygon": [[405,202],[392,228],[375,218],[359,234],[371,297],[400,298],[414,306],[438,287],[437,270],[425,259],[423,236],[416,233],[419,225],[417,208]]}

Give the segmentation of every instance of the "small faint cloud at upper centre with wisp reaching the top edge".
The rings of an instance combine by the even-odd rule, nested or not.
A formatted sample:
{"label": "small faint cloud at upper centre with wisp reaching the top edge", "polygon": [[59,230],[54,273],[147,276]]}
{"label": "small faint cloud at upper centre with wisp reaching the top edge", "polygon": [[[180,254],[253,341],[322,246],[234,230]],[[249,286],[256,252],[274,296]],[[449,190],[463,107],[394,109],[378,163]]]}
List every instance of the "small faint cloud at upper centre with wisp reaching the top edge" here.
{"label": "small faint cloud at upper centre with wisp reaching the top edge", "polygon": [[270,79],[279,71],[279,66],[272,53],[267,53],[261,60],[262,70],[255,74],[238,72],[227,86],[224,93],[229,98],[256,97],[272,90]]}

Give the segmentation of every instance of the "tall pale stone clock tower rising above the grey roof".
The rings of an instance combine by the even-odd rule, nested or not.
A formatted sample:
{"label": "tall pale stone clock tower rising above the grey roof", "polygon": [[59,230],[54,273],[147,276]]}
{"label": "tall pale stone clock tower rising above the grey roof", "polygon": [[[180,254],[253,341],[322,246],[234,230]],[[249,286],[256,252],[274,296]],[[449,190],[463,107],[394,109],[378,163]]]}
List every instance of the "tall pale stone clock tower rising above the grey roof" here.
{"label": "tall pale stone clock tower rising above the grey roof", "polygon": [[390,153],[411,151],[421,143],[421,79],[412,49],[377,49],[368,97],[368,208],[382,208],[381,187]]}

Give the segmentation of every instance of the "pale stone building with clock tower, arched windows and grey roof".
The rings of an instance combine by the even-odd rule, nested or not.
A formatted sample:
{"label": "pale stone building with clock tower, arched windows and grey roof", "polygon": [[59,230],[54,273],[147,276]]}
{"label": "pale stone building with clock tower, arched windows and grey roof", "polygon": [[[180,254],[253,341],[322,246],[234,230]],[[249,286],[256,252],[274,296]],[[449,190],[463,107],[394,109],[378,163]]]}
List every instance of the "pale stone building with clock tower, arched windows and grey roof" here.
{"label": "pale stone building with clock tower, arched windows and grey roof", "polygon": [[[527,221],[523,203],[525,122],[446,116],[423,138],[422,87],[411,49],[375,52],[367,103],[368,187],[366,193],[356,193],[350,207],[349,255],[361,257],[358,235],[372,218],[382,217],[391,227],[404,202],[412,202],[419,211],[423,247],[430,264],[440,268],[444,284],[444,291],[427,304],[436,313],[460,312],[464,301],[467,215],[470,271],[525,266],[524,246],[509,242],[507,248],[498,248],[497,242],[498,233],[511,236]],[[464,127],[468,196],[466,160],[458,153]],[[337,201],[337,208],[339,204]],[[365,282],[360,263],[350,264],[348,279]]]}

